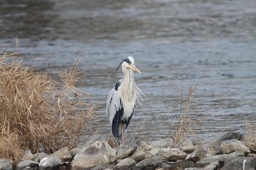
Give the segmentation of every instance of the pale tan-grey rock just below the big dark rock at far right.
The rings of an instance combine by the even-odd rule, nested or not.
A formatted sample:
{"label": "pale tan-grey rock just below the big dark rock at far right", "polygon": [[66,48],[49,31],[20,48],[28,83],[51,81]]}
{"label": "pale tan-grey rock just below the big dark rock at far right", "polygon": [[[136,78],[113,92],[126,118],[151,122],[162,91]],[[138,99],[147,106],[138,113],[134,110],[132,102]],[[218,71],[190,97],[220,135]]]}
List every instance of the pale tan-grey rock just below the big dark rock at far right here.
{"label": "pale tan-grey rock just below the big dark rock at far right", "polygon": [[220,146],[222,147],[223,153],[230,153],[235,151],[244,152],[245,154],[249,153],[250,150],[246,147],[243,142],[238,141],[238,139],[231,139],[223,141]]}

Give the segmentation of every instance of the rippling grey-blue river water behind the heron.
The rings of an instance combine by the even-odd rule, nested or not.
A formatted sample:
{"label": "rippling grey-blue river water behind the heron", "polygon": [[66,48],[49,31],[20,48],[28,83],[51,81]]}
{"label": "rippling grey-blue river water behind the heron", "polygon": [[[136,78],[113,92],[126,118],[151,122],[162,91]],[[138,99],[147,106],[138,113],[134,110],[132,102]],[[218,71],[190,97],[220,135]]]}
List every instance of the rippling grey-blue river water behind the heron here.
{"label": "rippling grey-blue river water behind the heron", "polygon": [[[0,42],[56,72],[80,58],[80,88],[96,112],[91,134],[108,136],[108,92],[128,55],[143,93],[127,130],[154,141],[174,134],[180,93],[196,86],[189,112],[202,139],[256,122],[255,0],[0,1]],[[18,41],[17,41],[18,37]]]}

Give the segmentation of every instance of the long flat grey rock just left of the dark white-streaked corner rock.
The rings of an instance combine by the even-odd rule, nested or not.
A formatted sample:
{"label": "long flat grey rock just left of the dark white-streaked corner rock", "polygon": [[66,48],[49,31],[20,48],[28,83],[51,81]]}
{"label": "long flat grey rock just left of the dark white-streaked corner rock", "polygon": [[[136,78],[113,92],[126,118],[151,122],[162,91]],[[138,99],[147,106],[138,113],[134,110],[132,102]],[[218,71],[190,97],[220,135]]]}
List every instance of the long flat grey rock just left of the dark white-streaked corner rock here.
{"label": "long flat grey rock just left of the dark white-streaked corner rock", "polygon": [[197,163],[195,163],[195,165],[197,165],[197,166],[207,166],[211,163],[214,163],[215,161],[218,161],[219,163],[224,163],[229,158],[231,158],[231,156],[228,155],[228,154],[214,155],[214,156],[210,156],[210,157],[207,157],[207,158],[203,158],[200,161],[197,161]]}

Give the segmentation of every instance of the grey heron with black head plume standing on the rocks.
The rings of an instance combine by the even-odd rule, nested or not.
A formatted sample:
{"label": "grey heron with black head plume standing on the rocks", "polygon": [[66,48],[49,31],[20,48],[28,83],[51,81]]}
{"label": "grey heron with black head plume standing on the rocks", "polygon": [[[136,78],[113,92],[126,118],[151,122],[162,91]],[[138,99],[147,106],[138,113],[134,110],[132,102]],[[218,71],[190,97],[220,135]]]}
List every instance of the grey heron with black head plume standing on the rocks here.
{"label": "grey heron with black head plume standing on the rocks", "polygon": [[107,99],[106,115],[112,125],[113,136],[124,144],[124,131],[127,129],[135,111],[136,101],[141,104],[143,93],[135,84],[134,72],[141,72],[135,66],[134,59],[129,56],[119,64],[118,68],[120,66],[124,73],[124,79],[119,80],[113,89],[110,90]]}

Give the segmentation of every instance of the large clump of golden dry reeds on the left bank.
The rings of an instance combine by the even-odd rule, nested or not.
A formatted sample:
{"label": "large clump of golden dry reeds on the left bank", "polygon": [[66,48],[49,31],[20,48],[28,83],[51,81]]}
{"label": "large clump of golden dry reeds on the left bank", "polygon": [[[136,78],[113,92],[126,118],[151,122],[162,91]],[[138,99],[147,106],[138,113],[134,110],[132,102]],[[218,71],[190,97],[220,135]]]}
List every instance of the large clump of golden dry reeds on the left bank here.
{"label": "large clump of golden dry reeds on the left bank", "polygon": [[36,72],[22,61],[0,56],[0,158],[18,161],[23,150],[53,152],[72,147],[92,111],[75,88],[83,72],[74,66],[59,72]]}

